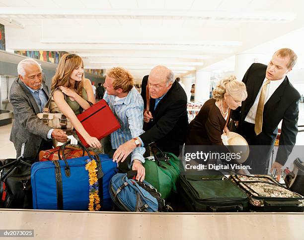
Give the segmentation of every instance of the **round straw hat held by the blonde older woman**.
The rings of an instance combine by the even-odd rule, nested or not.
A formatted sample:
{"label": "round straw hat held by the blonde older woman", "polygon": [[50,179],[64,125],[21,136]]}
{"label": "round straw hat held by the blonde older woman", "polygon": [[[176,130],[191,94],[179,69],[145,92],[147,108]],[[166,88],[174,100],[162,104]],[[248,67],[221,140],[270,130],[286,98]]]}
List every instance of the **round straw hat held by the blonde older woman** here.
{"label": "round straw hat held by the blonde older woman", "polygon": [[240,153],[240,159],[235,159],[235,162],[241,164],[246,161],[249,156],[249,146],[245,138],[236,132],[229,132],[228,136],[226,133],[222,134],[222,140],[230,152]]}

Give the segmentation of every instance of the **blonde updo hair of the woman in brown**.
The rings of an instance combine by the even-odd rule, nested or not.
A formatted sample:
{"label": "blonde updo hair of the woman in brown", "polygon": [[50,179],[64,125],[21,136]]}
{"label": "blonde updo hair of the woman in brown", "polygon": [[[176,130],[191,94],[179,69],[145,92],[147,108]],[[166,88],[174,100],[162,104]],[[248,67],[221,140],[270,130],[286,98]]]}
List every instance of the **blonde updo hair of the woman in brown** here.
{"label": "blonde updo hair of the woman in brown", "polygon": [[216,101],[224,98],[225,93],[232,98],[241,97],[244,101],[247,98],[246,86],[243,82],[237,81],[234,75],[230,75],[220,81],[212,91],[212,96]]}

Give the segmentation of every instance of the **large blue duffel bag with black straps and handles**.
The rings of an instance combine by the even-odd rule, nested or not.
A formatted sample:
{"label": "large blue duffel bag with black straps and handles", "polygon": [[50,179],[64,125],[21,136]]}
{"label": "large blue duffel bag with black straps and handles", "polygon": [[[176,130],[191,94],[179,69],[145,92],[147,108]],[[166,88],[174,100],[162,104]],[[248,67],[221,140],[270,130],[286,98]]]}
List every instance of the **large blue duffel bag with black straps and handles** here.
{"label": "large blue duffel bag with black straps and handles", "polygon": [[90,185],[89,173],[85,169],[88,159],[94,159],[97,164],[100,210],[112,209],[109,182],[117,173],[117,164],[108,155],[92,156],[81,143],[78,142],[78,145],[88,156],[66,160],[63,155],[63,160],[37,162],[32,165],[34,209],[88,210]]}

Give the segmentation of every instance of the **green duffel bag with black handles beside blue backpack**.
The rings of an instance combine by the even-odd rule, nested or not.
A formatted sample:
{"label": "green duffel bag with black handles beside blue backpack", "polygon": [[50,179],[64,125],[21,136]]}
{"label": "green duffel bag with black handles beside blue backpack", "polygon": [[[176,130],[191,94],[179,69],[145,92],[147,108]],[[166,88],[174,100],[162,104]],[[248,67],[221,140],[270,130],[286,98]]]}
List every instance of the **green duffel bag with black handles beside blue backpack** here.
{"label": "green duffel bag with black handles beside blue backpack", "polygon": [[163,153],[158,147],[151,146],[152,156],[146,158],[145,180],[167,198],[171,192],[176,192],[176,182],[179,178],[179,158],[173,153]]}

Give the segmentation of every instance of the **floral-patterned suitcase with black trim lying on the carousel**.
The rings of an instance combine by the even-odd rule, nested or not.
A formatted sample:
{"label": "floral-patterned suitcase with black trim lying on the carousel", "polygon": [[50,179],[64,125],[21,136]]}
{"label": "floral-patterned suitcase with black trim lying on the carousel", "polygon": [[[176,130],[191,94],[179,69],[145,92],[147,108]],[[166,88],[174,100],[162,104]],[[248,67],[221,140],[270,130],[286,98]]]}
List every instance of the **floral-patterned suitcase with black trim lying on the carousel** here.
{"label": "floral-patterned suitcase with black trim lying on the carousel", "polygon": [[249,209],[262,212],[303,212],[304,197],[268,175],[231,175],[230,180],[243,189]]}

